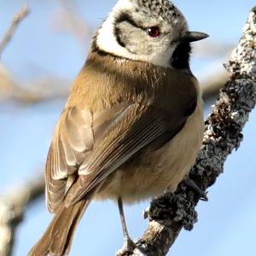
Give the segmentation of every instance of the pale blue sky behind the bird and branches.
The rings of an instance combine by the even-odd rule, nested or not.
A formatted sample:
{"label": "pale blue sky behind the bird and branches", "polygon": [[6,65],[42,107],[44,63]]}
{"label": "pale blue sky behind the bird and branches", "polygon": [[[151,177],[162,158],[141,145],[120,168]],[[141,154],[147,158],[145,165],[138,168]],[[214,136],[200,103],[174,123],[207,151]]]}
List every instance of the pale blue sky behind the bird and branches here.
{"label": "pale blue sky behind the bird and branches", "polygon": [[[99,26],[115,1],[73,1],[79,14],[91,27]],[[255,1],[174,1],[189,20],[192,30],[207,32],[221,44],[236,44]],[[0,0],[0,37],[22,1]],[[15,38],[3,54],[3,64],[19,80],[54,74],[73,79],[82,67],[87,45],[81,49],[67,33],[56,33],[50,17],[59,8],[58,1],[28,1],[32,14],[20,25]],[[210,41],[209,41],[210,42]],[[223,58],[201,59],[193,55],[194,73],[203,78],[212,68],[221,68]],[[9,186],[34,177],[44,165],[56,119],[65,102],[44,102],[33,106],[0,104],[0,193]],[[253,256],[255,255],[256,189],[255,180],[256,113],[252,113],[244,131],[241,148],[230,156],[225,172],[209,189],[209,202],[197,207],[199,222],[191,232],[182,231],[170,255],[183,256]],[[147,221],[143,209],[148,202],[125,207],[132,237],[143,234]],[[42,235],[51,216],[39,201],[29,209],[20,226],[15,256],[26,255]],[[93,202],[79,225],[72,256],[113,255],[122,246],[122,232],[117,207],[111,201]]]}

